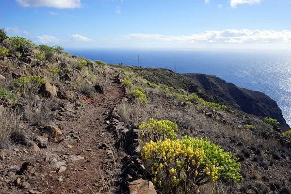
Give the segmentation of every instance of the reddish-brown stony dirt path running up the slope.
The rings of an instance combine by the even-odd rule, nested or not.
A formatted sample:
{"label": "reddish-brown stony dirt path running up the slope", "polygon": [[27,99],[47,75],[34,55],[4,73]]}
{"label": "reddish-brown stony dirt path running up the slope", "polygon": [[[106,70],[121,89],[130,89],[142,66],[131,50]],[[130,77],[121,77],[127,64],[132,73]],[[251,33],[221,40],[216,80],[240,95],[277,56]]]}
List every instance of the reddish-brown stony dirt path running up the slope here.
{"label": "reddish-brown stony dirt path running up the slope", "polygon": [[[21,191],[8,181],[13,180],[12,178],[2,178],[6,185],[10,185],[9,190],[13,194],[31,193],[29,190],[43,194],[100,192],[104,182],[113,177],[114,167],[118,165],[112,148],[113,136],[105,129],[107,124],[104,122],[106,117],[104,113],[115,107],[122,97],[121,86],[112,81],[106,86],[104,94],[97,94],[90,99],[80,99],[87,102],[87,106],[80,111],[79,116],[73,113],[72,103],[63,101],[67,111],[64,113],[63,121],[57,121],[56,124],[65,134],[65,140],[59,144],[50,143],[48,148],[40,151],[33,151],[30,148],[27,149],[28,153],[23,153],[23,148],[20,147],[18,155],[11,153],[12,157],[8,158],[10,163],[31,162],[31,165],[27,174],[20,176],[20,184],[29,183],[27,188],[24,187]],[[64,166],[61,170],[65,171],[58,173],[60,166]],[[13,178],[16,179],[17,175]],[[7,190],[2,192],[7,194]]]}

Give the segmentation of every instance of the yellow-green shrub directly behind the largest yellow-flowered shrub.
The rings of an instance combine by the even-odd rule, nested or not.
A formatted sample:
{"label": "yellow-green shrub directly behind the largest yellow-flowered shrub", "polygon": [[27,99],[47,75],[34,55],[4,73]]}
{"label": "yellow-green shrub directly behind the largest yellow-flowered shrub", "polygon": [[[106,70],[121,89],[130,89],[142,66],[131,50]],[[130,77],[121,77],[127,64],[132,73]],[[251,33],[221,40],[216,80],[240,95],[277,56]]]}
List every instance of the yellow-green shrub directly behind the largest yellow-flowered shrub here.
{"label": "yellow-green shrub directly behind the largest yellow-flowered shrub", "polygon": [[140,127],[141,138],[146,137],[146,141],[163,141],[165,138],[174,140],[177,138],[176,132],[178,131],[177,123],[170,120],[156,121],[150,118],[147,123],[143,122]]}

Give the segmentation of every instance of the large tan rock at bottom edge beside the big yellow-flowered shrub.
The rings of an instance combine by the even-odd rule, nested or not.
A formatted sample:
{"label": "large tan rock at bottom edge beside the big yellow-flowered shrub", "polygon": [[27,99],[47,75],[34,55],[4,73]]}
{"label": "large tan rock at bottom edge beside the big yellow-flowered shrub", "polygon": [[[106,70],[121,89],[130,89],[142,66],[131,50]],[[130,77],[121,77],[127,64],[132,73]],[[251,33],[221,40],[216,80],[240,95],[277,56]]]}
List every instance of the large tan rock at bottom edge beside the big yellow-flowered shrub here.
{"label": "large tan rock at bottom edge beside the big yellow-flowered shrub", "polygon": [[129,184],[130,194],[157,194],[154,184],[151,181],[142,178]]}

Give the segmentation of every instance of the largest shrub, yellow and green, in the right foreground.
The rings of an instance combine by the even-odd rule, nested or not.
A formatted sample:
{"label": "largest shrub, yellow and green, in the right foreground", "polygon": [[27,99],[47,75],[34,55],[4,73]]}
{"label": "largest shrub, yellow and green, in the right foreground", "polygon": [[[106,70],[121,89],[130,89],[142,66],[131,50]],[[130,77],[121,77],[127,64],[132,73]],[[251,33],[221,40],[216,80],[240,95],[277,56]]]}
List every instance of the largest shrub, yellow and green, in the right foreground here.
{"label": "largest shrub, yellow and green, in the right foreground", "polygon": [[151,141],[143,147],[142,158],[153,161],[152,181],[166,193],[195,193],[199,185],[208,182],[218,179],[238,182],[242,178],[238,159],[207,138],[185,136],[157,143]]}

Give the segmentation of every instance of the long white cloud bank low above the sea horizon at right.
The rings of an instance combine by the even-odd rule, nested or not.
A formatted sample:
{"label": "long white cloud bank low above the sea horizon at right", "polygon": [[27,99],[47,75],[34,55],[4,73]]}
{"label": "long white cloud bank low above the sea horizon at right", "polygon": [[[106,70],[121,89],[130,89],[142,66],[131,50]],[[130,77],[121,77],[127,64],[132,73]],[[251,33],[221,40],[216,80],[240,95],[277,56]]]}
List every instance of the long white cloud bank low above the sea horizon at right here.
{"label": "long white cloud bank low above the sea horizon at right", "polygon": [[274,30],[224,30],[204,31],[198,34],[165,36],[161,34],[133,33],[127,38],[156,39],[161,41],[177,41],[188,43],[291,43],[291,31]]}

